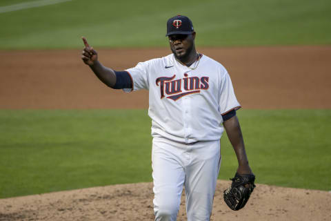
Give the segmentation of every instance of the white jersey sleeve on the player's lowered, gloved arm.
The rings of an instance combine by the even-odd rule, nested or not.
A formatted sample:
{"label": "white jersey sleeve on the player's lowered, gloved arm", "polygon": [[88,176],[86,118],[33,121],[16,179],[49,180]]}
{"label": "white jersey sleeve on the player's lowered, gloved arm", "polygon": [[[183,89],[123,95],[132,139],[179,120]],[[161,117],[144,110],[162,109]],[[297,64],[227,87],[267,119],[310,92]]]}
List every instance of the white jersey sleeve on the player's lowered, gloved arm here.
{"label": "white jersey sleeve on the player's lowered, gloved arm", "polygon": [[221,115],[225,115],[232,110],[238,110],[241,108],[239,102],[237,101],[237,97],[234,94],[230,75],[226,70],[223,77],[221,78],[219,93],[219,112]]}

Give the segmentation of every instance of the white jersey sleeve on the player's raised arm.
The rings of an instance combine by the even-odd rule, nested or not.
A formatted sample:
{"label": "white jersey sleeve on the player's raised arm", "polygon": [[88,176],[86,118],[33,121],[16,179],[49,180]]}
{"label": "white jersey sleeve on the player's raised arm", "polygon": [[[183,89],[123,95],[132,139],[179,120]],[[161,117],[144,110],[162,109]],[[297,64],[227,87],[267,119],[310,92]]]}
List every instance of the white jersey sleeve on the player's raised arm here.
{"label": "white jersey sleeve on the player's raised arm", "polygon": [[148,90],[148,62],[139,62],[134,68],[126,69],[132,79],[132,88],[124,88],[126,92],[147,89]]}

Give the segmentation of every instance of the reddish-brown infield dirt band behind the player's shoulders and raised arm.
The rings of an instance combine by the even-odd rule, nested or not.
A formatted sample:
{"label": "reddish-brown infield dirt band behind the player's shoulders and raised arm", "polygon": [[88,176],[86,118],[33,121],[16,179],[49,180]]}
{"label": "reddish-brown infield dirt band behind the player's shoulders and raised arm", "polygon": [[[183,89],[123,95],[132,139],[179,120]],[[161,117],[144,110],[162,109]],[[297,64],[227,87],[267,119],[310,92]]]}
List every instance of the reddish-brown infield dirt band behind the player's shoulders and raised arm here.
{"label": "reddish-brown infield dirt band behind the player's shoulders and raised arm", "polygon": [[[331,108],[331,46],[198,49],[228,69],[243,108]],[[170,54],[167,48],[98,52],[115,70]],[[108,88],[80,54],[0,51],[0,108],[148,108],[146,90]]]}

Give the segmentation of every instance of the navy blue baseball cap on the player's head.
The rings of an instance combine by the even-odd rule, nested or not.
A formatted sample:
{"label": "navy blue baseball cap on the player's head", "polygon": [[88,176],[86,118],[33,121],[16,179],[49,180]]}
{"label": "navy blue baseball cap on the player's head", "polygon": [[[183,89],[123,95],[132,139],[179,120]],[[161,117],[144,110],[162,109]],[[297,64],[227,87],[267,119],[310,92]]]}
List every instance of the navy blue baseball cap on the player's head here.
{"label": "navy blue baseball cap on the player's head", "polygon": [[183,15],[177,15],[167,21],[167,35],[190,35],[194,32],[192,21]]}

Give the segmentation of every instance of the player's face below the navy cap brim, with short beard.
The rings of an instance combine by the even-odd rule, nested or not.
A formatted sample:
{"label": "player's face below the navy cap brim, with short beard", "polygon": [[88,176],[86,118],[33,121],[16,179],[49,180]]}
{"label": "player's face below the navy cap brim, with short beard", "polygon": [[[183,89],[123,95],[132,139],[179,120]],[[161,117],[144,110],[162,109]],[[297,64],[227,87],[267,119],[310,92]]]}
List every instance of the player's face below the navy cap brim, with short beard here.
{"label": "player's face below the navy cap brim, with short beard", "polygon": [[191,35],[170,35],[169,44],[174,57],[183,61],[194,51],[195,32]]}

